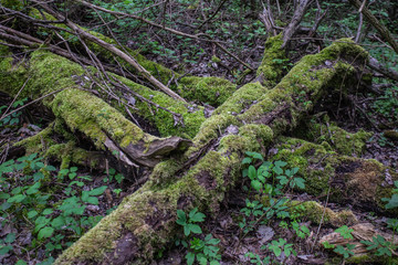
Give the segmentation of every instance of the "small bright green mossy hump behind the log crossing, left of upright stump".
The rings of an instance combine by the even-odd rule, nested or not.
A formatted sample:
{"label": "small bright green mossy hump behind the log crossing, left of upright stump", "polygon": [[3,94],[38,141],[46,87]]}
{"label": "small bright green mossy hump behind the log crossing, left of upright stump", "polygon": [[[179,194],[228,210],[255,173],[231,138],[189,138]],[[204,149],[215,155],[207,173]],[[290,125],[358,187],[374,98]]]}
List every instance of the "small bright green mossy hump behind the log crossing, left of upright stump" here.
{"label": "small bright green mossy hump behind the log crossing, left of upright stump", "polygon": [[177,92],[184,98],[219,106],[237,89],[237,85],[219,77],[182,77]]}

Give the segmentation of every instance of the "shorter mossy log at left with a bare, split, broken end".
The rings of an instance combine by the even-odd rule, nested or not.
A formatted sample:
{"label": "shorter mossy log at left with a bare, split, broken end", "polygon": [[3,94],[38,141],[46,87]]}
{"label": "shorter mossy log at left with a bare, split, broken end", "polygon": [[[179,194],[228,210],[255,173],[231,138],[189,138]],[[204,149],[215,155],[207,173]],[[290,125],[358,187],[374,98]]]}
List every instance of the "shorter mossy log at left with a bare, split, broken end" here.
{"label": "shorter mossy log at left with a bare, split, broken end", "polygon": [[[116,152],[128,166],[154,167],[172,150],[185,149],[189,140],[179,137],[157,138],[145,134],[104,100],[84,91],[91,86],[90,77],[78,65],[49,52],[32,53],[29,65],[21,62],[12,70],[12,59],[2,62],[0,89],[14,95],[20,81],[31,76],[21,95],[36,98],[54,91],[59,93],[44,99],[44,105],[73,131],[83,132],[98,149]],[[12,72],[17,72],[15,75]],[[81,78],[77,78],[81,77]]]}

